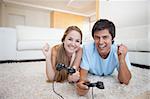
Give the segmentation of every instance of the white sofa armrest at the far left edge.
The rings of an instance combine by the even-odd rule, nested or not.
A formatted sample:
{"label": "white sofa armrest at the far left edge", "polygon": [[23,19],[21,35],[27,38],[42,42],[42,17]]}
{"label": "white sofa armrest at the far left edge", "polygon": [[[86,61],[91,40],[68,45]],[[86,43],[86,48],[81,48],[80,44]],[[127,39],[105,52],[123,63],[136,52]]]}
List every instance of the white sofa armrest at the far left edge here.
{"label": "white sofa armrest at the far left edge", "polygon": [[0,28],[0,60],[16,59],[16,30]]}

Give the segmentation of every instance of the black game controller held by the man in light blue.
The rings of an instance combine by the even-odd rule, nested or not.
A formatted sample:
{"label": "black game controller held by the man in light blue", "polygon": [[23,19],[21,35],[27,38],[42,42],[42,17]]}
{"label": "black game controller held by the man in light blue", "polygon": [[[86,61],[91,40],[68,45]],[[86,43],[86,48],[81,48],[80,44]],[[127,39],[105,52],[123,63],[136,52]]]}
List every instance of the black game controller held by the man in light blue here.
{"label": "black game controller held by the man in light blue", "polygon": [[87,85],[88,87],[97,87],[99,89],[104,89],[104,84],[101,81],[97,81],[96,83],[85,82],[83,84]]}

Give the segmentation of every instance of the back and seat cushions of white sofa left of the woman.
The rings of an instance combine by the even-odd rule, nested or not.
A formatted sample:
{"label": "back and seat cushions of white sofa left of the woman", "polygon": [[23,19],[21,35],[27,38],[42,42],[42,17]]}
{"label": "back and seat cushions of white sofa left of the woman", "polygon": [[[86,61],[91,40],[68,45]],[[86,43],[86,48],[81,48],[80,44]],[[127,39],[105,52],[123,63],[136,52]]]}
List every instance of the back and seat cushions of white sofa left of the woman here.
{"label": "back and seat cushions of white sofa left of the woman", "polygon": [[63,29],[31,26],[16,26],[17,50],[42,49],[45,43],[50,46],[61,42]]}

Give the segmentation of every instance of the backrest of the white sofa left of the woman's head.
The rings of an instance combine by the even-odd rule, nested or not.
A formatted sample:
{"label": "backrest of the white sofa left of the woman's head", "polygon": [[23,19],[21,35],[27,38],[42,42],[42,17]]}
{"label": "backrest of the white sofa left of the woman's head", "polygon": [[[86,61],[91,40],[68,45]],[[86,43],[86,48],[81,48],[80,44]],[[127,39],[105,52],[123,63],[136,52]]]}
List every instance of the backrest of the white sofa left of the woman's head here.
{"label": "backrest of the white sofa left of the woman's head", "polygon": [[[17,40],[59,40],[63,36],[63,29],[16,26]],[[59,38],[58,38],[59,37]]]}

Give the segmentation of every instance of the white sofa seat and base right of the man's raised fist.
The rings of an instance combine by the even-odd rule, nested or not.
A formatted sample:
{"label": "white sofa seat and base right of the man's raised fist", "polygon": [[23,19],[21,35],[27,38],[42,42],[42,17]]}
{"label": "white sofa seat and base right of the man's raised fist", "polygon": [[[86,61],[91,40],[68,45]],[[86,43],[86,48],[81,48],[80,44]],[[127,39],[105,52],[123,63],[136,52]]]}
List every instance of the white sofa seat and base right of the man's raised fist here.
{"label": "white sofa seat and base right of the man's raised fist", "polygon": [[134,65],[149,66],[150,68],[150,40],[126,39],[115,40],[117,44],[123,43],[128,47],[129,59]]}

